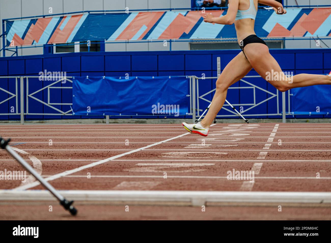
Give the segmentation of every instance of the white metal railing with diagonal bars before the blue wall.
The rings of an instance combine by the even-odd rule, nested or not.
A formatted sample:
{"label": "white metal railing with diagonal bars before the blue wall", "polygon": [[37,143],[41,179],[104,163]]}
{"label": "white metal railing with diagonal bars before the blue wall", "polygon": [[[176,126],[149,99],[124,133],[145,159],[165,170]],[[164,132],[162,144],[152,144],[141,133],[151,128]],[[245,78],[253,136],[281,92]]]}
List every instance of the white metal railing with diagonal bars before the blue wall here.
{"label": "white metal railing with diagonal bars before the blue wall", "polygon": [[[220,74],[220,61],[217,58],[217,72],[218,72],[218,76]],[[253,77],[260,77],[260,76],[246,76],[244,78],[253,78]],[[72,83],[71,79],[74,79],[73,76],[67,76],[67,77],[59,77],[59,76],[48,76],[48,78],[58,78],[59,80],[37,90],[32,92],[31,94],[29,94],[29,78],[39,78],[39,76],[2,76],[0,77],[0,81],[2,79],[9,79],[9,78],[15,78],[15,94],[5,90],[3,88],[0,88],[1,91],[11,95],[11,97],[1,100],[0,98],[0,104],[9,101],[13,98],[15,98],[15,107],[16,107],[16,112],[15,113],[0,113],[0,115],[21,115],[21,124],[24,124],[24,115],[73,115],[72,113],[72,108],[70,107],[69,110],[67,111],[62,111],[56,107],[54,107],[53,105],[72,105],[72,103],[56,103],[56,102],[51,102],[51,89],[72,89],[72,87],[59,87],[59,86],[54,86],[55,84],[62,82],[62,81],[68,81],[70,83]],[[44,77],[47,78],[47,77]],[[187,95],[187,97],[190,97],[190,112],[186,113],[186,115],[192,115],[193,117],[193,122],[196,120],[196,116],[200,116],[200,112],[203,111],[202,109],[200,109],[200,105],[199,105],[199,101],[200,100],[204,100],[204,101],[208,101],[211,102],[207,99],[205,99],[204,97],[210,93],[212,93],[213,91],[215,91],[215,89],[208,91],[205,94],[199,95],[199,80],[203,79],[203,78],[199,78],[197,76],[187,76],[187,78],[189,78],[189,94]],[[20,79],[20,93],[18,90],[18,79]],[[24,79],[26,80],[26,96],[24,98]],[[217,79],[217,77],[205,77],[204,79]],[[290,112],[290,91],[288,91],[288,113],[286,113],[286,103],[285,103],[285,92],[282,92],[282,112],[279,111],[279,92],[278,90],[276,91],[276,94],[267,91],[259,86],[256,86],[250,82],[247,82],[244,79],[241,79],[241,81],[243,81],[244,83],[250,85],[247,87],[230,87],[230,89],[253,89],[253,97],[254,97],[254,102],[253,103],[243,103],[243,104],[233,104],[233,105],[252,105],[251,107],[249,107],[248,109],[244,110],[243,112],[241,112],[241,114],[244,114],[246,111],[260,105],[261,103],[264,103],[266,101],[271,100],[272,98],[277,98],[277,113],[273,113],[273,114],[245,114],[245,116],[282,116],[283,117],[283,122],[285,122],[285,118],[286,115],[293,115]],[[43,90],[47,89],[47,103],[34,97],[35,94],[37,94],[38,92],[41,92]],[[271,97],[260,101],[259,103],[256,102],[256,96],[255,96],[255,90],[259,89],[262,90],[270,95],[272,95]],[[18,97],[20,96],[20,109],[19,109],[19,100]],[[52,109],[54,109],[55,111],[57,111],[57,113],[30,113],[29,112],[29,98],[30,99],[34,99],[35,101],[40,102],[43,105],[46,105]],[[26,102],[26,112],[24,113],[24,101]],[[198,102],[197,102],[198,101]],[[224,106],[229,106],[228,104],[224,104]],[[222,107],[222,109],[230,112],[231,114],[229,115],[217,115],[216,117],[235,117],[238,116],[237,113],[235,113],[234,111],[226,108],[226,107]],[[20,110],[20,112],[18,112]],[[109,122],[109,116],[106,115],[106,121]]]}

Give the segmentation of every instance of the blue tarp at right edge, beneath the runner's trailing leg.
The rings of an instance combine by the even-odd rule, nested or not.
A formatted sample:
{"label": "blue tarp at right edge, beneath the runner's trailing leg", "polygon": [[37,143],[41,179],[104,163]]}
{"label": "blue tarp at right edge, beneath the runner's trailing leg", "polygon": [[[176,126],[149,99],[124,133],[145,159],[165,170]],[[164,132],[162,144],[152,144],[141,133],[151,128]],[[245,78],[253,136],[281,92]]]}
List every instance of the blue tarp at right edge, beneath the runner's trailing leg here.
{"label": "blue tarp at right edge, beneath the runner's trailing leg", "polygon": [[331,115],[331,86],[314,85],[291,90],[294,114]]}

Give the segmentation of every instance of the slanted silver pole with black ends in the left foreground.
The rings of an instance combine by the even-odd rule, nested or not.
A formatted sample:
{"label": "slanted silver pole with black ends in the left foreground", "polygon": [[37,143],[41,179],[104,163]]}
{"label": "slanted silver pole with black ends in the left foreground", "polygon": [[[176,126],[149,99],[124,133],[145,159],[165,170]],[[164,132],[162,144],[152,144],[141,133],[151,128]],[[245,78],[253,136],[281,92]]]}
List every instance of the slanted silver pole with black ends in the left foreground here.
{"label": "slanted silver pole with black ends in the left foreground", "polygon": [[0,137],[0,147],[5,149],[14,159],[16,159],[32,176],[34,176],[47,190],[50,191],[60,202],[60,204],[68,210],[71,215],[77,214],[77,209],[72,206],[73,201],[65,199],[50,183],[45,181],[18,153],[16,153],[9,145],[10,139],[5,140]]}

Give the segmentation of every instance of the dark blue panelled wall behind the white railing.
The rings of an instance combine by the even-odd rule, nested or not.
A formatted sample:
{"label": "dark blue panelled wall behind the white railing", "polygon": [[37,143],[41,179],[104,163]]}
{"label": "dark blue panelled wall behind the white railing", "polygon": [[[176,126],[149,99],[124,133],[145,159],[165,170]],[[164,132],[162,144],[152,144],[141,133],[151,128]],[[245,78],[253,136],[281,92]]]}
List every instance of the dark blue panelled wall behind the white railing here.
{"label": "dark blue panelled wall behind the white railing", "polygon": [[[180,75],[196,75],[201,77],[202,73],[207,76],[217,76],[217,63],[216,58],[221,57],[221,71],[225,68],[229,61],[232,60],[240,51],[239,50],[207,50],[207,51],[163,51],[163,52],[98,52],[98,53],[66,53],[66,54],[47,54],[47,55],[36,55],[36,56],[23,56],[23,57],[6,57],[0,58],[0,75],[15,75],[15,76],[29,76],[36,74],[40,71],[62,71],[67,72],[67,76],[114,76],[122,78],[126,74],[131,76],[180,76]],[[293,71],[294,74],[299,73],[312,73],[312,74],[322,74],[328,73],[331,70],[331,50],[330,49],[271,49],[270,53],[279,62],[283,71]],[[309,60],[309,61],[308,61]],[[252,70],[249,75],[256,75],[257,73]],[[270,84],[267,84],[260,78],[261,82],[256,81],[260,87],[266,88],[270,92],[275,93],[276,89]],[[215,81],[210,80],[205,86],[199,86],[199,94],[206,93],[208,90],[215,88]],[[249,81],[249,80],[248,80]],[[13,80],[4,81],[1,80],[1,86],[4,89],[9,89],[14,91],[15,84]],[[7,82],[7,86],[6,86]],[[39,82],[39,81],[38,81]],[[47,82],[43,84],[35,83],[29,84],[31,93],[32,90],[43,87]],[[71,85],[71,83],[65,84]],[[65,86],[62,84],[62,87]],[[242,84],[235,84],[233,87]],[[0,101],[3,100],[0,92]],[[46,91],[36,94],[43,101],[47,101],[48,94]],[[59,99],[61,95],[61,99]],[[8,97],[6,94],[2,96]],[[70,90],[51,90],[52,101],[62,103],[70,103],[72,101]],[[206,99],[212,99],[213,93],[206,96]],[[269,97],[269,95],[257,93],[257,98]],[[25,97],[25,96],[24,96]],[[230,102],[239,103],[246,102],[251,97],[249,90],[231,90],[228,92],[228,100]],[[287,98],[287,97],[286,97]],[[7,98],[6,98],[7,99]],[[247,99],[247,101],[244,101]],[[275,98],[273,98],[275,99]],[[263,105],[259,105],[252,109],[250,112],[256,114],[264,113],[275,113],[276,103],[272,100],[267,101]],[[31,98],[29,98],[29,101]],[[31,101],[29,105],[29,112],[49,112],[52,109],[38,104],[37,101]],[[34,103],[37,102],[37,103]],[[204,103],[205,102],[205,103]],[[204,109],[208,105],[207,101],[200,104],[200,109]],[[281,102],[281,101],[279,101]],[[8,107],[12,106],[15,100],[7,101],[0,105],[0,113],[7,113]],[[35,104],[35,105],[34,105]],[[281,103],[279,103],[281,105]],[[34,106],[34,107],[31,107]],[[40,106],[41,105],[41,106]],[[58,107],[58,106],[56,106]],[[66,110],[64,105],[59,105],[62,110]],[[281,107],[281,106],[280,106]],[[238,108],[238,107],[237,107]],[[288,109],[288,107],[286,107]],[[254,111],[254,112],[253,112]],[[221,111],[219,114],[229,114],[228,112]],[[281,108],[280,108],[281,112]],[[249,113],[248,113],[249,114]],[[43,116],[37,118],[36,116],[27,116],[27,119],[54,119],[60,118],[61,116]],[[63,118],[73,118],[72,116],[62,116]],[[80,116],[79,116],[80,117]],[[309,115],[297,116],[302,117],[312,117]],[[318,114],[316,117],[326,117],[326,115]],[[82,116],[82,118],[88,118]],[[156,118],[156,117],[155,117]],[[270,118],[275,118],[271,117]],[[3,116],[0,119],[19,119],[19,116]]]}

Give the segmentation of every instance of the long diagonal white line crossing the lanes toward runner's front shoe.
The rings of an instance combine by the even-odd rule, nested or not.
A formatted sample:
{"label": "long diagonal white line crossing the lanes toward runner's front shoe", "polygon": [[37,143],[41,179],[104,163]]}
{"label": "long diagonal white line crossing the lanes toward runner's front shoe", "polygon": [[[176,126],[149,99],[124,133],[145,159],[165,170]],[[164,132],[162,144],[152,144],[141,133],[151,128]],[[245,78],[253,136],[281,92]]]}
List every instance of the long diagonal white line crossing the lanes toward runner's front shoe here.
{"label": "long diagonal white line crossing the lanes toward runner's front shoe", "polygon": [[[178,135],[176,137],[173,137],[173,138],[170,138],[170,139],[166,139],[166,140],[163,140],[161,142],[156,142],[156,143],[153,143],[153,144],[150,144],[150,145],[147,145],[145,147],[141,147],[141,148],[138,148],[138,149],[134,149],[134,150],[131,150],[129,152],[125,152],[125,153],[122,153],[122,154],[118,154],[118,155],[115,155],[115,156],[112,156],[112,157],[109,157],[107,159],[103,159],[103,160],[100,160],[100,161],[97,161],[97,162],[93,162],[91,164],[88,164],[88,165],[84,165],[84,166],[80,166],[78,168],[75,168],[75,169],[72,169],[72,170],[69,170],[69,171],[64,171],[62,173],[59,173],[59,174],[56,174],[56,175],[53,175],[51,177],[48,177],[46,178],[45,180],[46,181],[53,181],[53,180],[56,180],[58,178],[61,178],[63,176],[68,176],[70,174],[73,174],[73,173],[76,173],[78,171],[81,171],[81,170],[84,170],[84,169],[87,169],[87,168],[91,168],[91,167],[94,167],[96,165],[101,165],[103,163],[106,163],[106,162],[109,162],[111,160],[114,160],[114,159],[117,159],[117,158],[120,158],[122,156],[125,156],[125,155],[128,155],[128,154],[132,154],[132,153],[135,153],[135,152],[138,152],[138,151],[141,151],[143,149],[146,149],[146,148],[149,148],[149,147],[152,147],[152,146],[155,146],[155,145],[159,145],[161,143],[164,143],[164,142],[167,142],[167,141],[170,141],[170,140],[173,140],[173,139],[176,139],[176,138],[180,138],[180,137],[183,137],[185,135],[188,135],[190,133],[184,133],[184,134],[181,134],[181,135]],[[24,187],[21,188],[21,190],[26,190],[26,189],[29,189],[29,188],[32,188],[32,187],[35,187],[37,185],[39,185],[40,182],[32,182],[30,184],[26,184]],[[15,189],[14,189],[15,190]]]}

